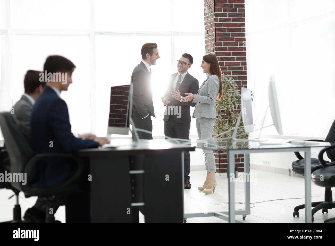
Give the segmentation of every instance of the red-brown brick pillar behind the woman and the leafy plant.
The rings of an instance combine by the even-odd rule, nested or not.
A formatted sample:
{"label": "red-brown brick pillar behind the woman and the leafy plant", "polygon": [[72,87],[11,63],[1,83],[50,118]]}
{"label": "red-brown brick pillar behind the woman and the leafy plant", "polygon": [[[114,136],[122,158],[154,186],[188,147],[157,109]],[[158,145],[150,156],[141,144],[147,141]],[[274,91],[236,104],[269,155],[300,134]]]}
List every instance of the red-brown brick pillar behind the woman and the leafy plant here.
{"label": "red-brown brick pillar behind the woman and the leafy plant", "polygon": [[[240,88],[247,87],[244,0],[204,0],[204,15],[206,54],[214,54],[222,73],[229,74]],[[214,155],[216,172],[227,172],[227,155]],[[235,163],[243,171],[243,154],[235,155]]]}

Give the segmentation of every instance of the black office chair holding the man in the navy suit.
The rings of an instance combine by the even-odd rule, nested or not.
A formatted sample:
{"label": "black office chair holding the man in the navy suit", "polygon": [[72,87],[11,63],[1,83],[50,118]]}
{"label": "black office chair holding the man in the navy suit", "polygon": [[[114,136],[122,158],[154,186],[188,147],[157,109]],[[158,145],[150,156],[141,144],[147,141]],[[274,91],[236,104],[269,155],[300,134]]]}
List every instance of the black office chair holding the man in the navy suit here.
{"label": "black office chair holding the man in the navy suit", "polygon": [[[55,203],[64,205],[64,200],[67,195],[81,190],[80,185],[75,184],[75,181],[78,179],[84,169],[83,162],[71,154],[53,153],[34,155],[34,151],[32,150],[27,139],[19,130],[18,121],[15,119],[15,116],[9,112],[0,113],[0,127],[5,139],[6,150],[10,159],[10,172],[27,173],[27,181],[25,185],[22,185],[21,182],[11,182],[11,186],[17,190],[17,197],[18,192],[20,191],[24,192],[25,197],[44,197],[47,201],[46,223],[55,222],[54,214],[49,213],[50,208],[53,208],[53,204]],[[74,163],[77,164],[77,169],[74,175],[64,181],[62,184],[48,188],[40,188],[38,187],[36,181],[37,162],[44,158],[50,157],[70,158],[74,160]],[[21,209],[19,216],[16,216],[14,221],[21,221]]]}

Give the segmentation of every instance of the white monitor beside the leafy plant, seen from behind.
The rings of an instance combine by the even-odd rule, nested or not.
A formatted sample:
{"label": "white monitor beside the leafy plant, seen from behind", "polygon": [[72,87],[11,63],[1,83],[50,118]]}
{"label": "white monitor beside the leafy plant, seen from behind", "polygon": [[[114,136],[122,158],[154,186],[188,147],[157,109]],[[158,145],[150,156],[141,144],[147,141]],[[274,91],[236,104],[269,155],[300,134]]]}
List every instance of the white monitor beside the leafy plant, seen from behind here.
{"label": "white monitor beside the leafy plant, seen from behind", "polygon": [[251,90],[245,87],[241,88],[241,110],[244,131],[251,133],[254,131],[254,122],[252,118]]}

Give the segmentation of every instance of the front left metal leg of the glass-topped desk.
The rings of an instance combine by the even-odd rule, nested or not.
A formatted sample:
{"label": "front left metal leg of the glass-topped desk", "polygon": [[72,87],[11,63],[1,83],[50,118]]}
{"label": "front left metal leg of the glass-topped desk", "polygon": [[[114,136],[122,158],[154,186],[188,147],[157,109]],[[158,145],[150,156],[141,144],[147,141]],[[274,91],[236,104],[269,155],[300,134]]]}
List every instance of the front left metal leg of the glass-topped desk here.
{"label": "front left metal leg of the glass-topped desk", "polygon": [[229,223],[235,223],[235,154],[228,151],[228,201]]}

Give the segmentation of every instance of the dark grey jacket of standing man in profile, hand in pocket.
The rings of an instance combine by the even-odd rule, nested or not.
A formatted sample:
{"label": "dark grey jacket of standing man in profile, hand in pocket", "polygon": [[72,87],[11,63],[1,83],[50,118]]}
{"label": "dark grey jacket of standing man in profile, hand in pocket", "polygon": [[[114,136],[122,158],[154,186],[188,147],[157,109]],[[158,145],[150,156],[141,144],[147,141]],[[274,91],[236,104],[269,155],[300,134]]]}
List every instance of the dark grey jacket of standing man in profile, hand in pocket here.
{"label": "dark grey jacket of standing man in profile, hand in pocket", "polygon": [[[155,117],[150,85],[151,74],[140,62],[131,75],[130,84],[133,85],[133,115],[144,118],[147,114]],[[148,116],[148,117],[149,117]]]}

